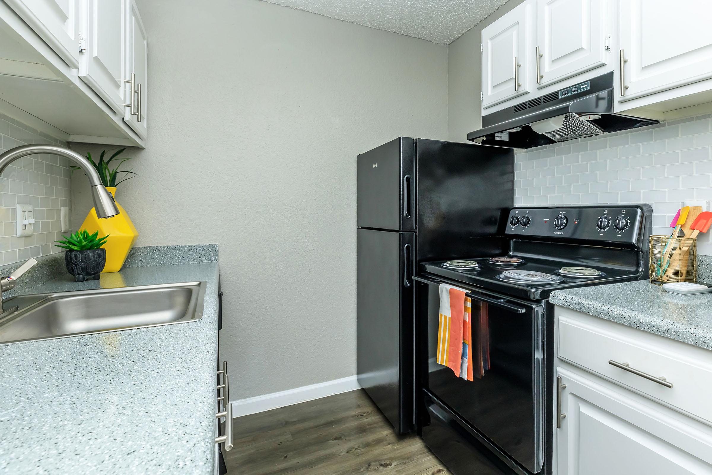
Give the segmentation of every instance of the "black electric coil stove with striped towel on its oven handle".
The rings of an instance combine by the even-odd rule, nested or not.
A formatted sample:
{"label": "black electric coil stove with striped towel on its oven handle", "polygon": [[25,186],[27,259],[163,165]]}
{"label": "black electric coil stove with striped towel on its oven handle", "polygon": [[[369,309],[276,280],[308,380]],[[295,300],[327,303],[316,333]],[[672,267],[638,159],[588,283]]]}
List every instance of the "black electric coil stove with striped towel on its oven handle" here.
{"label": "black electric coil stove with striped towel on its oven handle", "polygon": [[[647,278],[651,216],[648,204],[515,208],[500,254],[472,249],[420,263],[414,276],[419,431],[453,474],[551,473],[548,297],[558,289]],[[473,381],[436,363],[443,284],[464,289],[472,301]]]}

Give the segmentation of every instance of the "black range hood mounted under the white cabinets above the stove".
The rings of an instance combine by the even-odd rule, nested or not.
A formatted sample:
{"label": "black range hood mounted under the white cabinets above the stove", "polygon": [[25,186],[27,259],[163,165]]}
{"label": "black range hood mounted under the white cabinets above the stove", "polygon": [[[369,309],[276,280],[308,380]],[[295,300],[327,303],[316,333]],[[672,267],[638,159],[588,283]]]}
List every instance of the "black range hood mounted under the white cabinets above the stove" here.
{"label": "black range hood mounted under the white cabinets above the stove", "polygon": [[613,113],[613,72],[484,115],[467,140],[501,147],[531,148],[658,121]]}

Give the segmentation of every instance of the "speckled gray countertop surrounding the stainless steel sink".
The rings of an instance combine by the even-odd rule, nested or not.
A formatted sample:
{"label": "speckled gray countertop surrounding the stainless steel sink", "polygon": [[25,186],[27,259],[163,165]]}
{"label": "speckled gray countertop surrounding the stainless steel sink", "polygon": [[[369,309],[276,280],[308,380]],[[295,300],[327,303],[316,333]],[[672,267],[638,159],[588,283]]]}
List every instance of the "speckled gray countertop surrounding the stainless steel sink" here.
{"label": "speckled gray countertop surrounding the stainless steel sink", "polygon": [[189,281],[207,283],[201,320],[0,345],[1,474],[213,473],[216,261],[63,274],[22,293]]}

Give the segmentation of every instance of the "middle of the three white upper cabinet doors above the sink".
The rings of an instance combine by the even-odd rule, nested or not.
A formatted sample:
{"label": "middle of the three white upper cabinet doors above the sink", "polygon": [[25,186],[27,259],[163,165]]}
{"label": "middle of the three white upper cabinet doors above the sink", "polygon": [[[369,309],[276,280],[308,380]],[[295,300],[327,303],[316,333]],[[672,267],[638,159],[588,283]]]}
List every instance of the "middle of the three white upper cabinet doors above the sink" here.
{"label": "middle of the three white upper cabinet doors above the sink", "polygon": [[126,73],[126,21],[130,0],[86,0],[87,51],[79,76],[100,98],[123,115],[128,87]]}

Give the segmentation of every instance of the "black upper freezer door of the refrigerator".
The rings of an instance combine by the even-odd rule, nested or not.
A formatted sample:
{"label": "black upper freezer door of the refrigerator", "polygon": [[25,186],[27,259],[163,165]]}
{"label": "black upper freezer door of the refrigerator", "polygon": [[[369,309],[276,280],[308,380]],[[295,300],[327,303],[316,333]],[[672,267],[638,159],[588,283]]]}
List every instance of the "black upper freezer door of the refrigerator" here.
{"label": "black upper freezer door of the refrigerator", "polygon": [[413,139],[399,137],[358,156],[357,225],[415,229]]}

